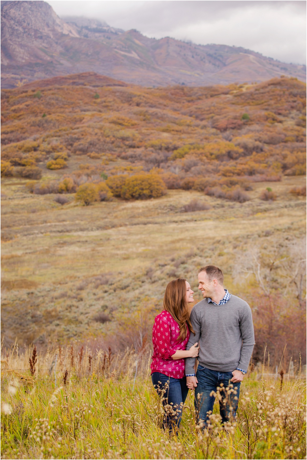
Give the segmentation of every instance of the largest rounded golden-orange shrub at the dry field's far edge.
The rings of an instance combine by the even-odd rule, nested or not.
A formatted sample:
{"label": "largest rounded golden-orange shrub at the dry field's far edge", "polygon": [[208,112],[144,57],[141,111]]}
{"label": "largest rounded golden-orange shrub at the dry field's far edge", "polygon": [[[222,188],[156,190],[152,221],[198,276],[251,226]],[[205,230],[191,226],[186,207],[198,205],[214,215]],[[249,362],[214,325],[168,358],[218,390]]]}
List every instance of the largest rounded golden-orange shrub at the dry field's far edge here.
{"label": "largest rounded golden-orange shrub at the dry field's far edge", "polygon": [[165,192],[165,184],[156,174],[138,174],[128,177],[122,188],[121,196],[125,200],[158,198]]}

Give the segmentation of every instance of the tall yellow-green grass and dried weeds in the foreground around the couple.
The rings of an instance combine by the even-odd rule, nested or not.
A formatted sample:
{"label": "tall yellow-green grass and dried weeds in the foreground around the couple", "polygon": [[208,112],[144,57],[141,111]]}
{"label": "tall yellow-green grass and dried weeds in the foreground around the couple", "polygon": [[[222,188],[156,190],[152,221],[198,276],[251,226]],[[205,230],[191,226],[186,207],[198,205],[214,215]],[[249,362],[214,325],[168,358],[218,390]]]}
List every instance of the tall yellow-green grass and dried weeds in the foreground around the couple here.
{"label": "tall yellow-green grass and dried weeds in the foreground around the couple", "polygon": [[288,375],[280,388],[268,367],[249,373],[237,422],[224,428],[216,403],[202,431],[189,392],[179,436],[169,437],[151,384],[150,352],[113,357],[111,350],[57,348],[38,353],[33,377],[24,370],[32,353],[17,344],[2,349],[3,459],[305,458],[306,380],[300,374]]}

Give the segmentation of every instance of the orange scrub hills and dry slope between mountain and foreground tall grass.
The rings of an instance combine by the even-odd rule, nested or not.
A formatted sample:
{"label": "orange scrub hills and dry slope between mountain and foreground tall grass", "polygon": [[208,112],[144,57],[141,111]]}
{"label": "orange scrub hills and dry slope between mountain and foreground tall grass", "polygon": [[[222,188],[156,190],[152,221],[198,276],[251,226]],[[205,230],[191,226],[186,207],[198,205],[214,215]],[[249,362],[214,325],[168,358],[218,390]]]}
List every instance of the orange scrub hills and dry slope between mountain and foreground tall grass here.
{"label": "orange scrub hills and dry slope between mountain and foreground tall grass", "polygon": [[[277,362],[286,340],[284,359],[305,362],[304,83],[144,88],[87,73],[1,98],[6,344],[142,349],[166,283],[197,292],[213,263],[253,308],[254,359],[267,345]],[[156,199],[114,187],[152,179],[167,189]],[[113,197],[75,201],[107,184]]]}

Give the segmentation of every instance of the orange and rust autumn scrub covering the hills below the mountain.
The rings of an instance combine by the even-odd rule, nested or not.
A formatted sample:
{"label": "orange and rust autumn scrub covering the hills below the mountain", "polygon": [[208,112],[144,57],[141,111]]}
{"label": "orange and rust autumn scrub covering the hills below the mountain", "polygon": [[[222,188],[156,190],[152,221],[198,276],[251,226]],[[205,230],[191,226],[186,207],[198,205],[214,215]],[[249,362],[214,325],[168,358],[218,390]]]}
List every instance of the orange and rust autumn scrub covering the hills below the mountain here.
{"label": "orange and rust autumn scrub covering the hills below the mountain", "polygon": [[[64,83],[3,90],[2,176],[38,180],[34,168],[46,174],[86,156],[70,171],[74,186],[57,178],[54,193],[104,174],[113,196],[125,199],[161,196],[162,179],[168,189],[244,201],[247,183],[306,174],[306,85],[295,78],[200,88]],[[160,179],[147,188],[133,178],[153,168]],[[245,185],[226,186],[225,178]]]}

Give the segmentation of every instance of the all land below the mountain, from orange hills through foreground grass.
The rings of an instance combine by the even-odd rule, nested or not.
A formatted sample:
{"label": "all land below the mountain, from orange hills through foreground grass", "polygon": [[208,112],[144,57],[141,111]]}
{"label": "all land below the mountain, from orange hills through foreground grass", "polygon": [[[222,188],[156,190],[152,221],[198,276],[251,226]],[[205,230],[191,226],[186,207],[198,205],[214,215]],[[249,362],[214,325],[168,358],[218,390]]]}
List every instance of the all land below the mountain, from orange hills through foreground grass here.
{"label": "all land below the mountain, from orange hills through foreground grass", "polygon": [[[2,457],[305,458],[306,85],[107,80],[1,92]],[[153,319],[207,264],[256,344],[237,425],[168,439]]]}

